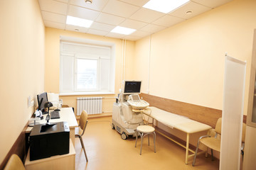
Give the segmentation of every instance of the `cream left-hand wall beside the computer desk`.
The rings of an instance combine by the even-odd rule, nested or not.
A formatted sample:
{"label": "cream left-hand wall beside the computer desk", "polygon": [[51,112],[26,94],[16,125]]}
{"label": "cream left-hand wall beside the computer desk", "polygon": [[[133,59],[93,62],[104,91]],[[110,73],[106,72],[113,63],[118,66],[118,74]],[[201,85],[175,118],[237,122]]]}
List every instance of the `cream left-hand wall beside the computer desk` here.
{"label": "cream left-hand wall beside the computer desk", "polygon": [[45,27],[38,1],[0,1],[0,163],[28,123],[28,96],[44,88]]}

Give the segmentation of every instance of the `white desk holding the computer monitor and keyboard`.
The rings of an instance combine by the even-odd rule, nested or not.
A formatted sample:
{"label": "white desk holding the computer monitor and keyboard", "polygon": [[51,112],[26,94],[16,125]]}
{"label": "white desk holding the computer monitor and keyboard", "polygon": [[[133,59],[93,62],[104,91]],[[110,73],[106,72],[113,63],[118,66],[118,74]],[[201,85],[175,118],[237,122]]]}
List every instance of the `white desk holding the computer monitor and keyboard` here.
{"label": "white desk holding the computer monitor and keyboard", "polygon": [[[51,112],[51,111],[50,111]],[[78,121],[75,118],[75,114],[72,108],[60,108],[60,118],[50,119],[49,123],[56,122],[68,122],[70,128],[70,139],[75,146],[75,128],[78,127]],[[46,115],[43,115],[43,120],[36,120],[36,123],[44,124],[46,123]],[[28,127],[26,132],[31,132],[33,127]]]}

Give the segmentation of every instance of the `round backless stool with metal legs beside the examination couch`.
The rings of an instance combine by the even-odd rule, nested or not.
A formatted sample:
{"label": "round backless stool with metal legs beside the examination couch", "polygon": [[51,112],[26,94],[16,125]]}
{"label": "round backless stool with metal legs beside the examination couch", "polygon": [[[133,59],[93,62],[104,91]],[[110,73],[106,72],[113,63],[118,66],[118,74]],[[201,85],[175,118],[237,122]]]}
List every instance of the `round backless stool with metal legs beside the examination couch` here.
{"label": "round backless stool with metal legs beside the examination couch", "polygon": [[[138,139],[138,133],[141,136],[142,142],[143,142],[143,137],[150,134],[154,135],[154,152],[156,153],[156,133],[154,132],[155,129],[149,125],[140,125],[137,127],[136,130],[136,142],[135,142],[135,147],[137,145],[137,139]],[[140,154],[142,154],[142,144],[141,144],[141,149],[140,149]]]}

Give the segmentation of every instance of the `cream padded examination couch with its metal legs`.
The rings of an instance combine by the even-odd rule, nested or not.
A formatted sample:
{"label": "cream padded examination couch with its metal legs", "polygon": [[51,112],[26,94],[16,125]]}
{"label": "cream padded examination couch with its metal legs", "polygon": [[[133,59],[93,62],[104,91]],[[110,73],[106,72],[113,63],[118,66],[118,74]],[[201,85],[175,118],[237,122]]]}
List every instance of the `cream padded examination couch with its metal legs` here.
{"label": "cream padded examination couch with its metal legs", "polygon": [[[186,118],[181,115],[176,115],[174,113],[169,113],[166,111],[163,111],[159,108],[155,107],[148,107],[150,110],[145,110],[143,113],[145,115],[148,115],[149,117],[163,123],[164,125],[168,126],[169,128],[176,128],[177,130],[181,130],[182,132],[186,132],[186,146],[182,145],[181,143],[177,142],[174,139],[171,139],[170,137],[167,137],[163,133],[159,132],[161,135],[164,135],[164,137],[167,137],[169,140],[175,142],[176,144],[180,145],[181,147],[186,149],[186,160],[185,163],[188,164],[188,157],[194,156],[194,151],[192,149],[189,149],[189,134],[196,133],[196,132],[202,132],[205,130],[209,130],[211,127],[209,125],[199,123],[195,120],[191,120],[189,118]],[[193,154],[188,155],[188,151],[192,152]]]}

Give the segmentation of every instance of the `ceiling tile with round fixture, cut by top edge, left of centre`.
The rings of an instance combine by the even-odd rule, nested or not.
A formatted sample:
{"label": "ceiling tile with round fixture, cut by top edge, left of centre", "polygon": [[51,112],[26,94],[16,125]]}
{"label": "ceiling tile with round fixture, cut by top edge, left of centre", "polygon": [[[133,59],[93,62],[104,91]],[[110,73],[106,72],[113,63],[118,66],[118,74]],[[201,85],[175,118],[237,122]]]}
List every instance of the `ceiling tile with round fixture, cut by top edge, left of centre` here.
{"label": "ceiling tile with round fixture, cut by top edge, left of centre", "polygon": [[70,0],[70,4],[75,6],[82,6],[84,8],[90,8],[96,11],[102,11],[108,0],[96,0],[92,1],[92,4],[86,4],[84,0]]}

